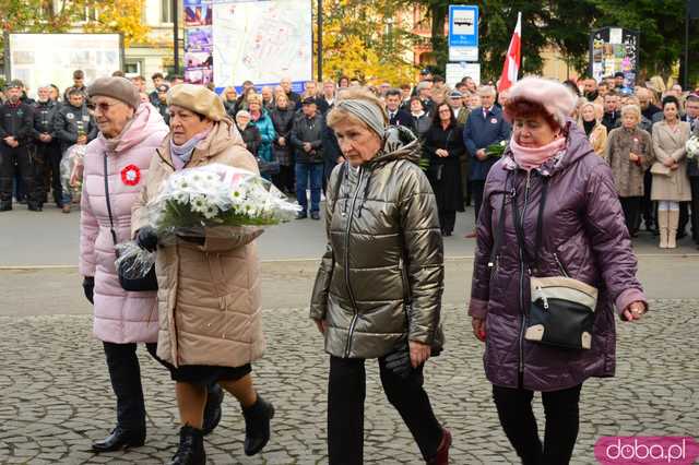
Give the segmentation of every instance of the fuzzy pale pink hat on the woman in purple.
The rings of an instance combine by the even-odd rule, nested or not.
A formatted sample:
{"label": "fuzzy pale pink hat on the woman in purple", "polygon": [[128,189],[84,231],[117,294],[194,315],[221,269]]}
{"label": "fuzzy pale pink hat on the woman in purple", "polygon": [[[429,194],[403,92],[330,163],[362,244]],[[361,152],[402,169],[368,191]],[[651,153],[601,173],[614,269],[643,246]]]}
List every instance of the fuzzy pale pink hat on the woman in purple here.
{"label": "fuzzy pale pink hat on the woman in purple", "polygon": [[508,100],[522,99],[542,105],[561,128],[576,109],[578,98],[559,82],[538,76],[524,78],[508,90]]}

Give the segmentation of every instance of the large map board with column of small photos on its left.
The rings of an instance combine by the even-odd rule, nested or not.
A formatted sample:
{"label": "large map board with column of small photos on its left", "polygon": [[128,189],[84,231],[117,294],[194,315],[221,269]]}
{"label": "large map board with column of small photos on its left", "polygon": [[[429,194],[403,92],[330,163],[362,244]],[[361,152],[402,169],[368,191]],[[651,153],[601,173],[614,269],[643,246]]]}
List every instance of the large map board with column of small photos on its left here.
{"label": "large map board with column of small photos on its left", "polygon": [[185,80],[220,91],[312,80],[311,0],[183,0]]}

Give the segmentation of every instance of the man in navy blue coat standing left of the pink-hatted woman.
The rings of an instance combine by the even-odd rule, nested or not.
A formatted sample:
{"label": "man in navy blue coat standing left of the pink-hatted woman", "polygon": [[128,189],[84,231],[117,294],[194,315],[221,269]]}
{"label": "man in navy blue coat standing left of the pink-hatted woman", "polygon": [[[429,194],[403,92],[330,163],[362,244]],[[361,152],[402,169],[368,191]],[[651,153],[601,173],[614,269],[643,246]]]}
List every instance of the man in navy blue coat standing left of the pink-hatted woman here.
{"label": "man in navy blue coat standing left of the pink-hatted woman", "polygon": [[[512,130],[510,123],[502,118],[502,110],[495,107],[495,87],[484,85],[478,88],[478,95],[482,106],[471,111],[463,130],[463,142],[471,156],[469,179],[476,222],[481,213],[485,180],[490,167],[497,162],[496,157],[488,156],[486,148],[494,143],[508,141]],[[476,237],[475,230],[466,237]]]}

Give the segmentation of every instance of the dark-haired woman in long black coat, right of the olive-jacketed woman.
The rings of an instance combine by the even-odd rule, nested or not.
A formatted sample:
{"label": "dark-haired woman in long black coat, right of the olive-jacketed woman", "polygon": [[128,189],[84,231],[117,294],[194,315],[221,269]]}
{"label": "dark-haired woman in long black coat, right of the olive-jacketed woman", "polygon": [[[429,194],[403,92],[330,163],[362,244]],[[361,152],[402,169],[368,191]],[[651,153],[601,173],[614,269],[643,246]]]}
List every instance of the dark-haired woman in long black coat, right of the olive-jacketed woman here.
{"label": "dark-haired woman in long black coat, right of the olive-jacketed woman", "polygon": [[437,199],[443,236],[451,236],[457,212],[463,212],[459,159],[466,152],[466,147],[461,138],[462,132],[463,127],[457,122],[449,104],[440,104],[435,108],[433,124],[425,133],[423,145],[425,157],[429,159],[427,177]]}

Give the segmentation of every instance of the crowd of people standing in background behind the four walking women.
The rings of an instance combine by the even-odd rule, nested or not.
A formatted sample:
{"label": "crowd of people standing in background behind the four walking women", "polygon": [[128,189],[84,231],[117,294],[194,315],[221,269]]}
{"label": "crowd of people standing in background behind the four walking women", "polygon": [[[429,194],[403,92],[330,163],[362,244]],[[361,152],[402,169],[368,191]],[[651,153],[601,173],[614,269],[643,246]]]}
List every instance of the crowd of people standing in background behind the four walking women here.
{"label": "crowd of people standing in background behind the four walking women", "polygon": [[[75,71],[73,81],[62,102],[54,85],[38,88],[36,102],[19,81],[5,87],[0,130],[8,156],[0,167],[0,211],[12,207],[13,194],[29,210],[40,211],[52,192],[56,205],[70,213],[71,193],[76,192],[66,179],[61,182],[61,159],[68,148],[97,135],[83,72]],[[144,78],[131,82],[141,100],[152,104],[168,123],[167,92],[181,78],[165,80],[155,73],[150,93]],[[683,92],[678,85],[665,88],[657,76],[632,91],[623,87],[620,75],[565,84],[578,96],[570,117],[613,169],[631,236],[644,229],[660,236],[660,247],[674,248],[691,224],[691,237],[699,243],[699,168],[684,150],[699,130],[699,94]],[[258,88],[246,81],[240,93],[235,87],[221,93],[227,116],[262,175],[297,198],[303,207],[299,218],[320,218],[330,172],[344,162],[325,117],[339,94],[356,86],[360,86],[357,80],[342,76],[336,82],[307,82],[299,94],[284,79],[275,87]],[[491,147],[506,144],[511,134],[502,116],[507,91],[498,94],[491,85],[477,86],[469,76],[451,88],[428,70],[415,85],[367,88],[381,99],[390,124],[410,129],[423,143],[423,167],[437,194],[443,235],[453,233],[455,214],[464,206],[473,205],[477,218],[485,180],[501,153]],[[475,231],[466,237],[474,238]]]}

